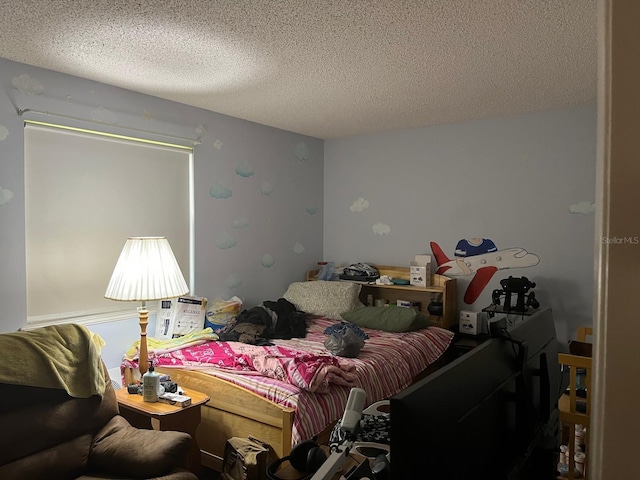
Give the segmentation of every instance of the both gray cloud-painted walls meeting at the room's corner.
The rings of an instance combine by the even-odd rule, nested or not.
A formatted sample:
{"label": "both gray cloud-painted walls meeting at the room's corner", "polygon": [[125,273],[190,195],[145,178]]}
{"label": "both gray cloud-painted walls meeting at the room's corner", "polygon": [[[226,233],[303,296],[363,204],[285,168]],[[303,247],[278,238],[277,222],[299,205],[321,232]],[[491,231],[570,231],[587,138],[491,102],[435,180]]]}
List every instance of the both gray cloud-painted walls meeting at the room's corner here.
{"label": "both gray cloud-painted walls meeting at the room's corner", "polygon": [[[195,150],[198,295],[238,295],[253,306],[279,297],[319,259],[405,265],[431,253],[431,241],[452,257],[459,239],[482,236],[500,249],[525,248],[540,263],[497,272],[472,305],[462,301],[469,278],[458,277],[459,309],[480,310],[500,279],[527,276],[554,309],[561,338],[591,324],[595,107],[323,144],[0,59],[0,331],[26,323],[16,108],[185,137],[204,132]],[[107,340],[110,367],[138,332],[135,314],[91,328]]]}

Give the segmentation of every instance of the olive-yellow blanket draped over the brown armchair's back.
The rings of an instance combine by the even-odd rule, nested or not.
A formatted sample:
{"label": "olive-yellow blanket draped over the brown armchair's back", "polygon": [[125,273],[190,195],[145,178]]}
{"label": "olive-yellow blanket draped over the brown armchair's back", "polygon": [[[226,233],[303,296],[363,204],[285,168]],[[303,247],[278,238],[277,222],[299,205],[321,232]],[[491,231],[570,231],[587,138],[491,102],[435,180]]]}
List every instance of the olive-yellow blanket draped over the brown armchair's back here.
{"label": "olive-yellow blanket draped over the brown armchair's back", "polygon": [[0,383],[64,389],[72,397],[102,395],[104,340],[76,324],[0,334]]}

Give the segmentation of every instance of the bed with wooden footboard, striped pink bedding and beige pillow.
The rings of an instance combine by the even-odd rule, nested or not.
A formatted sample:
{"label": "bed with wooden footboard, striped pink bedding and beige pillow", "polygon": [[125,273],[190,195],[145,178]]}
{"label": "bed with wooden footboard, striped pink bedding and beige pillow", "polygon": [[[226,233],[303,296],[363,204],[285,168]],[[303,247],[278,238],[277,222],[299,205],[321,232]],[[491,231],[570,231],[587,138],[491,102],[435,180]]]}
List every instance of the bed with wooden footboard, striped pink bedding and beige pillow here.
{"label": "bed with wooden footboard, striped pink bedding and beige pillow", "polygon": [[[327,288],[333,291],[328,292]],[[301,440],[328,435],[344,412],[352,386],[363,388],[367,392],[367,404],[371,404],[403,390],[437,368],[453,333],[435,326],[390,332],[362,326],[365,323],[359,328],[368,338],[357,357],[329,359],[333,356],[324,346],[327,338],[324,331],[340,322],[337,311],[345,311],[347,305],[354,310],[362,306],[359,292],[360,286],[349,282],[296,282],[285,292],[284,298],[296,300],[293,303],[308,313],[307,335],[273,340],[273,346],[264,348],[293,352],[293,357],[298,353],[297,358],[287,358],[287,362],[303,362],[306,358],[333,362],[331,366],[338,372],[330,375],[322,386],[309,387],[304,382],[294,385],[284,381],[288,378],[269,376],[268,367],[253,371],[253,368],[219,368],[198,361],[183,362],[195,357],[193,352],[182,350],[173,355],[179,360],[172,359],[157,367],[157,371],[169,374],[172,381],[211,398],[202,408],[197,433],[203,465],[220,471],[226,440],[249,435],[269,443],[278,456],[285,456]],[[197,348],[209,353],[225,349],[252,355],[256,352],[254,346],[240,342],[214,341]],[[267,350],[258,358],[269,357],[271,353],[273,350]],[[200,354],[198,350],[194,355]],[[125,378],[129,381],[135,365],[128,363],[125,367]],[[297,363],[294,367],[293,370],[300,371],[296,370]],[[308,365],[305,363],[303,367]]]}

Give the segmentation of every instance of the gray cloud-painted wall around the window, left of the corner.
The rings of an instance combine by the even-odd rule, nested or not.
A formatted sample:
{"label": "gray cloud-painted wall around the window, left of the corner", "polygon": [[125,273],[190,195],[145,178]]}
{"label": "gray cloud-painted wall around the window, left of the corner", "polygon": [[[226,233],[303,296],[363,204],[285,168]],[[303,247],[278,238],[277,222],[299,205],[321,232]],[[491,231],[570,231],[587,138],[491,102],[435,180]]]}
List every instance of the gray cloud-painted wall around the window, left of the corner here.
{"label": "gray cloud-painted wall around the window, left of the corner", "polygon": [[[0,59],[0,332],[26,324],[17,108],[189,138],[203,134],[195,149],[197,295],[237,295],[250,307],[280,297],[322,258],[321,140]],[[129,321],[90,327],[107,341],[109,367],[119,365],[137,338],[136,319],[132,312]]]}

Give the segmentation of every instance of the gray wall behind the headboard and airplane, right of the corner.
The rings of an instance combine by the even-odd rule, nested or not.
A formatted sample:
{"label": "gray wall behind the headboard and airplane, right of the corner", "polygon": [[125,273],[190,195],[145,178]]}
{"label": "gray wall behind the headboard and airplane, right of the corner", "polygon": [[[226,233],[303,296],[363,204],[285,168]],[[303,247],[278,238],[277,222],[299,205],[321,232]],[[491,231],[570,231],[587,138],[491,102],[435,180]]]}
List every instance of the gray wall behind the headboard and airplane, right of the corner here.
{"label": "gray wall behind the headboard and airplane, right of the corner", "polygon": [[459,309],[526,276],[568,339],[592,324],[595,159],[595,106],[327,140],[324,259],[408,265],[468,237],[522,247],[539,263],[496,272],[473,304],[456,277]]}

